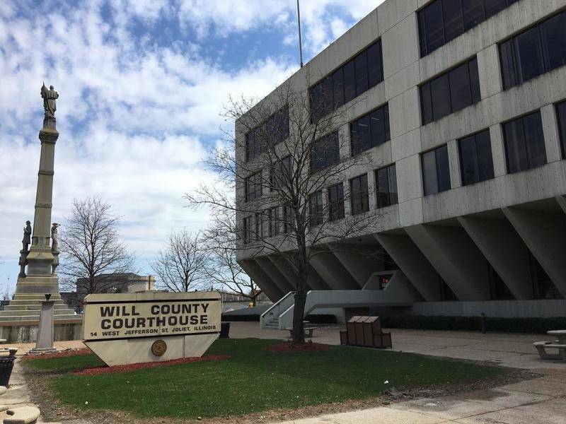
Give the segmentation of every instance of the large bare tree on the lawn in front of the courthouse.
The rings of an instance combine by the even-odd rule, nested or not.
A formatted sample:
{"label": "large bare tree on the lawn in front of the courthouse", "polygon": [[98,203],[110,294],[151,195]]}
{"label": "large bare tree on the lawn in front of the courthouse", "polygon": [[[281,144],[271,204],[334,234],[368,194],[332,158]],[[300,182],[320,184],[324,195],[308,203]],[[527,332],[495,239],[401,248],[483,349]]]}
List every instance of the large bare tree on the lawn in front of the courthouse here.
{"label": "large bare tree on the lawn in front of the courthouse", "polygon": [[[377,222],[376,213],[365,213],[369,198],[364,182],[354,184],[354,192],[345,184],[366,173],[371,160],[369,152],[350,156],[349,139],[340,134],[354,104],[328,100],[322,91],[309,96],[289,81],[261,102],[229,99],[224,116],[235,122],[236,131],[227,132],[226,146],[207,159],[218,181],[185,196],[189,206],[206,205],[212,216],[236,215],[238,257],[289,259],[297,276],[294,343],[304,343],[311,259],[325,245],[367,233]],[[352,144],[358,142],[362,138]],[[345,213],[350,204],[352,213]],[[214,225],[221,237],[233,231],[218,220]]]}

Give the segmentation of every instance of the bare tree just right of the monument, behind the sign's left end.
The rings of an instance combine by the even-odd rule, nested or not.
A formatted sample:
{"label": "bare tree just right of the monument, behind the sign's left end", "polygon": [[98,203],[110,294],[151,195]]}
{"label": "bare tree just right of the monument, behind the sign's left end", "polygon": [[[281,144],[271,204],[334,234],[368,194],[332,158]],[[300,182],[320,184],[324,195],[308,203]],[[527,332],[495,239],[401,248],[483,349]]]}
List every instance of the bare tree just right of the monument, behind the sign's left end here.
{"label": "bare tree just right of the monument, behind the sign's left end", "polygon": [[126,283],[134,269],[134,254],[121,241],[120,217],[97,197],[74,199],[71,216],[62,227],[62,283],[76,283],[79,295],[105,293]]}

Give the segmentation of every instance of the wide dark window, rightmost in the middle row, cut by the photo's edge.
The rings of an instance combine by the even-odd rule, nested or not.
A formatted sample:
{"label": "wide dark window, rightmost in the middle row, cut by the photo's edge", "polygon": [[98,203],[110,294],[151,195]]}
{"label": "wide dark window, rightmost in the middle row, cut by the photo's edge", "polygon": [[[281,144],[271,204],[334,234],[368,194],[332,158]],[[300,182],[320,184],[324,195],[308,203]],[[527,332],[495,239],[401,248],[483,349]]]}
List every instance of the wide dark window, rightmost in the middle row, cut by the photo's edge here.
{"label": "wide dark window, rightmost in the middle row, cut by the photo's edge", "polygon": [[499,45],[504,89],[566,64],[566,11]]}

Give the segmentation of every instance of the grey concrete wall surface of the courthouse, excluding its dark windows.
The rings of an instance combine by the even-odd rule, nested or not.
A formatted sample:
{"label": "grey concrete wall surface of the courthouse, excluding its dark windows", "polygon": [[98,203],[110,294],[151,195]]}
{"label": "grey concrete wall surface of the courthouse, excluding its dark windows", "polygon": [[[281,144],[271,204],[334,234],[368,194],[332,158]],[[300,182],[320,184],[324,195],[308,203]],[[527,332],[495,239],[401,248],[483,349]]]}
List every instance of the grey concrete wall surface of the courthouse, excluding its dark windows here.
{"label": "grey concrete wall surface of the courthouse, excluding its dark windows", "polygon": [[[359,95],[347,114],[352,122],[388,104],[391,141],[367,153],[372,162],[364,170],[370,187],[367,213],[379,213],[383,219],[379,231],[361,241],[345,242],[376,252],[383,249],[393,259],[396,265],[391,271],[402,271],[403,284],[412,284],[422,297],[417,301],[414,297],[399,299],[413,305],[404,307],[403,313],[564,316],[566,160],[560,148],[555,105],[566,100],[566,67],[504,90],[498,46],[564,11],[566,0],[519,0],[420,57],[417,13],[429,3],[385,1],[284,83],[308,90],[309,81],[312,85],[328,76],[381,40],[383,82]],[[423,125],[420,86],[473,57],[478,59],[481,100]],[[536,111],[541,112],[546,163],[509,173],[502,124]],[[485,130],[490,134],[494,177],[463,185],[458,141]],[[349,124],[339,132],[349,145]],[[237,124],[236,136],[240,141],[245,138],[238,133]],[[422,153],[444,145],[448,147],[451,189],[425,196]],[[340,156],[345,160],[350,152],[342,150]],[[236,157],[243,160],[239,148]],[[398,204],[377,209],[374,170],[392,164],[396,167]],[[345,189],[354,176],[344,175]],[[348,205],[345,214],[346,218],[350,214]],[[373,272],[390,271],[355,253],[317,248],[323,253],[311,263],[318,282],[311,286],[313,292],[361,290]],[[253,273],[274,302],[293,286],[292,273],[276,266],[278,260],[238,253],[243,268]]]}

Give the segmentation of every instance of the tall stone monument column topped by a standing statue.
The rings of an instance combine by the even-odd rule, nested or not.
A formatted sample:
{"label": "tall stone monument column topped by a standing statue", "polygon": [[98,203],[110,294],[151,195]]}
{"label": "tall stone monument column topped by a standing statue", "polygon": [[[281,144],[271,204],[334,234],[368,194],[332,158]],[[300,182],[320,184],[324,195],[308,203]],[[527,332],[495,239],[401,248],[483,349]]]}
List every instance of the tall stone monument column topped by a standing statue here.
{"label": "tall stone monument column topped by a standing statue", "polygon": [[57,276],[52,275],[53,253],[51,249],[51,208],[53,196],[53,175],[55,143],[59,132],[55,128],[56,100],[59,94],[53,86],[41,88],[45,117],[40,130],[41,154],[37,172],[37,194],[33,217],[33,236],[27,256],[28,272],[18,279],[16,293],[59,293]]}

